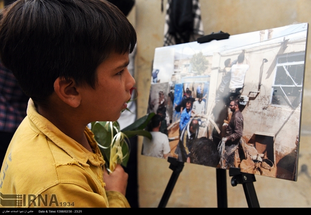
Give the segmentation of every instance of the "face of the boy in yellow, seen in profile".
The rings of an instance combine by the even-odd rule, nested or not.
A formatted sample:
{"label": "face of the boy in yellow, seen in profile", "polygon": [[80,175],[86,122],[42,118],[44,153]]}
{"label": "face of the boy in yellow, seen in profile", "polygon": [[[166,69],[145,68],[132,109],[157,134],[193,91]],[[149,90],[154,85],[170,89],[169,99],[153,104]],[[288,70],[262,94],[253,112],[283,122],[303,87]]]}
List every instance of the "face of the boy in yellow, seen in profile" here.
{"label": "face of the boy in yellow, seen in profile", "polygon": [[116,121],[121,111],[126,108],[126,101],[131,97],[129,90],[135,84],[127,69],[128,63],[128,53],[112,53],[96,69],[96,88],[82,89],[81,104],[84,105],[85,114],[89,115],[90,122]]}

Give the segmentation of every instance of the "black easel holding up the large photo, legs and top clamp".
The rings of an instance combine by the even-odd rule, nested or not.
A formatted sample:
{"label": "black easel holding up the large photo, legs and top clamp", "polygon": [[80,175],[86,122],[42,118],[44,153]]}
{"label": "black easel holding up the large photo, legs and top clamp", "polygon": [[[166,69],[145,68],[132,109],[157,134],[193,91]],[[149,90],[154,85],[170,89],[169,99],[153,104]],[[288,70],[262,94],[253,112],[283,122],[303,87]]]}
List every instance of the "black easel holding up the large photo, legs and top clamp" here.
{"label": "black easel holding up the large photo, legs and top clamp", "polygon": [[[217,33],[212,33],[210,35],[200,37],[198,38],[197,41],[198,43],[207,43],[212,40],[228,39],[229,36],[230,35],[228,33],[220,31]],[[177,161],[176,158],[169,157],[168,162],[171,163],[170,169],[173,170],[173,173],[158,207],[165,207],[167,205],[169,198],[172,194],[173,188],[178,179],[178,176],[184,168],[184,163]],[[253,182],[256,181],[255,176],[253,174],[240,172],[240,168],[229,168],[229,176],[232,176],[231,179],[232,186],[236,186],[237,184],[243,185],[248,207],[259,207],[259,202],[253,184]],[[216,169],[216,179],[217,179],[217,205],[218,207],[228,207],[226,170]]]}

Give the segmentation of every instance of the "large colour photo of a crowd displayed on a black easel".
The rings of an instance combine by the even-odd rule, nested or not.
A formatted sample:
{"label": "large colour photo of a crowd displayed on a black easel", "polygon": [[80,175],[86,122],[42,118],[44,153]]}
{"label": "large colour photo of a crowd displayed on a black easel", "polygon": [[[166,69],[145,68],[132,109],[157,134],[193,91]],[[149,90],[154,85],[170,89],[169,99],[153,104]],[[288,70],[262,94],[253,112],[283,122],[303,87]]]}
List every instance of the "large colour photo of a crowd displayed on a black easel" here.
{"label": "large colour photo of a crowd displayed on a black easel", "polygon": [[156,48],[141,153],[296,180],[307,29]]}

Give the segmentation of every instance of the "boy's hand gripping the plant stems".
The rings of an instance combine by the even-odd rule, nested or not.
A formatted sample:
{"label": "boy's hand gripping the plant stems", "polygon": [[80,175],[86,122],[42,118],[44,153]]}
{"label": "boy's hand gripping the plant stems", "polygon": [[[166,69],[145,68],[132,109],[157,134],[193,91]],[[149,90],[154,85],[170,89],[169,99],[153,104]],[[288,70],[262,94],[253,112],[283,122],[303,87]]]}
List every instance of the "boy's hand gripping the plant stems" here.
{"label": "boy's hand gripping the plant stems", "polygon": [[107,191],[118,191],[125,195],[128,174],[120,164],[117,164],[114,171],[110,174],[108,174],[105,169],[103,177],[104,182],[106,183],[105,189]]}

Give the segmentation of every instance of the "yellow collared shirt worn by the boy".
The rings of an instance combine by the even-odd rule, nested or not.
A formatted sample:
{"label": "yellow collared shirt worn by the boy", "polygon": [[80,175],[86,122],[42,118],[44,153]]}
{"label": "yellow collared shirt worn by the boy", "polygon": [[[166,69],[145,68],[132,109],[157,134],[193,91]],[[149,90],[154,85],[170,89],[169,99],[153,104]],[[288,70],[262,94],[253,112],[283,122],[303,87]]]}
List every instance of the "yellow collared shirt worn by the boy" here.
{"label": "yellow collared shirt worn by the boy", "polygon": [[105,161],[88,128],[84,133],[94,153],[39,115],[31,99],[27,115],[3,162],[0,206],[129,206],[121,193],[105,191]]}

